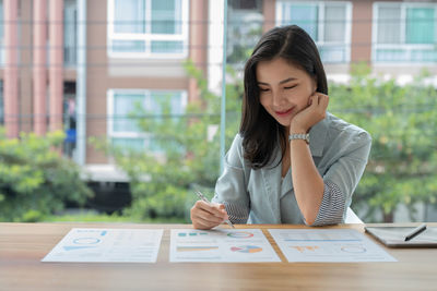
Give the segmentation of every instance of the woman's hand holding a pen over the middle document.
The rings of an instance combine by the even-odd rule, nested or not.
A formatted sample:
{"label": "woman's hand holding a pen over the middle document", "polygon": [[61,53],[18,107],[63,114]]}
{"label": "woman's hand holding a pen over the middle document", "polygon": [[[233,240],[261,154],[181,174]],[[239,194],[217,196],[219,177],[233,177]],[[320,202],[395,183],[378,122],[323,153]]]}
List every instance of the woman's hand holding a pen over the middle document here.
{"label": "woman's hand holding a pen over the middle document", "polygon": [[191,221],[196,229],[212,229],[229,219],[223,204],[197,201],[191,207]]}

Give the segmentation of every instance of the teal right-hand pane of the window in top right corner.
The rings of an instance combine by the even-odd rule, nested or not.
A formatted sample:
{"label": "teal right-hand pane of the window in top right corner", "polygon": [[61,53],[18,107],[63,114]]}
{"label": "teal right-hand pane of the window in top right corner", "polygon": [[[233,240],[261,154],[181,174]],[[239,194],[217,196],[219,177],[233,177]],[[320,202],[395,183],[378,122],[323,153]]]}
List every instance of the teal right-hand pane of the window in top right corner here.
{"label": "teal right-hand pane of the window in top right corner", "polygon": [[434,9],[406,9],[406,44],[434,44]]}

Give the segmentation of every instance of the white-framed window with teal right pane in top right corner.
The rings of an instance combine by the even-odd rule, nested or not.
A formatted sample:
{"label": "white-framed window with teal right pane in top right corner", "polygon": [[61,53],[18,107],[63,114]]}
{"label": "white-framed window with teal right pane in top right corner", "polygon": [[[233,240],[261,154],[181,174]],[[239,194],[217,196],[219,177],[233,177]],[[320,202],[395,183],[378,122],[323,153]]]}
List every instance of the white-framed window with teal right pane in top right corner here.
{"label": "white-framed window with teal right pane in top right corner", "polygon": [[375,3],[374,62],[437,62],[437,4]]}

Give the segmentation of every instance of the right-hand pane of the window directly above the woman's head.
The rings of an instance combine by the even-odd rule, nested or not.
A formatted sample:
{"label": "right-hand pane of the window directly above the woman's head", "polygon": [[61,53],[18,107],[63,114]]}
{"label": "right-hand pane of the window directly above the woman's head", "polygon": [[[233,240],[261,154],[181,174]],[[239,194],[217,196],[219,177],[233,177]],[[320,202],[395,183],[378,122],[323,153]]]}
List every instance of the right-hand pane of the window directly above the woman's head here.
{"label": "right-hand pane of the window directly above the woman's head", "polygon": [[324,9],[324,41],[345,41],[346,8],[327,5]]}

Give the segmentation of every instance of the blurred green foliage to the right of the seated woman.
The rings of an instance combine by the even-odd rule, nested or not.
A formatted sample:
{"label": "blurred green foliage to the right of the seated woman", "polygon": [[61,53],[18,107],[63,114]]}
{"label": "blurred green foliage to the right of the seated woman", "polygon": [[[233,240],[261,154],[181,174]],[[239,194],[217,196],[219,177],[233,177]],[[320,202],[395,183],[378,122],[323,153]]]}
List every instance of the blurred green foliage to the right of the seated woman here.
{"label": "blurred green foliage to the right of the seated woman", "polygon": [[354,194],[355,208],[392,217],[401,204],[414,220],[417,202],[437,198],[437,90],[424,83],[399,86],[394,80],[369,74],[366,65],[354,68],[347,85],[330,84],[329,110],[367,130],[373,146],[364,177]]}

